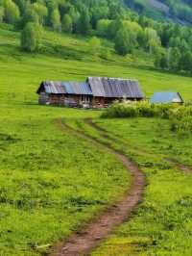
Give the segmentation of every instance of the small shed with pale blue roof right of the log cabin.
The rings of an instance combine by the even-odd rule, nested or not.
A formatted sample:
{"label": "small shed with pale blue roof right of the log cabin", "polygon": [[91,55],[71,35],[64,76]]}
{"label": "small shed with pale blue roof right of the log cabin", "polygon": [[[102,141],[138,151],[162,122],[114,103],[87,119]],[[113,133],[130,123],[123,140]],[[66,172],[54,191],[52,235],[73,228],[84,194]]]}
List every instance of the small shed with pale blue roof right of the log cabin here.
{"label": "small shed with pale blue roof right of the log cabin", "polygon": [[182,97],[179,92],[158,91],[150,99],[151,103],[182,103]]}

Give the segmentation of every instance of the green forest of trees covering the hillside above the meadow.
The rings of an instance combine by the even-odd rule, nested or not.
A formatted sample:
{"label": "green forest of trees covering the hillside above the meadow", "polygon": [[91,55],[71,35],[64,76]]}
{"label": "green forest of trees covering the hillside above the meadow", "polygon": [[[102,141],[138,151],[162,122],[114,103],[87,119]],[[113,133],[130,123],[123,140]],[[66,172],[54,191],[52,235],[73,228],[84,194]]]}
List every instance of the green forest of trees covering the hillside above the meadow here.
{"label": "green forest of trees covering the hillside above the meadow", "polygon": [[121,0],[0,0],[0,22],[21,31],[21,47],[37,51],[43,28],[114,43],[119,55],[147,52],[156,67],[192,73],[192,29],[133,13]]}

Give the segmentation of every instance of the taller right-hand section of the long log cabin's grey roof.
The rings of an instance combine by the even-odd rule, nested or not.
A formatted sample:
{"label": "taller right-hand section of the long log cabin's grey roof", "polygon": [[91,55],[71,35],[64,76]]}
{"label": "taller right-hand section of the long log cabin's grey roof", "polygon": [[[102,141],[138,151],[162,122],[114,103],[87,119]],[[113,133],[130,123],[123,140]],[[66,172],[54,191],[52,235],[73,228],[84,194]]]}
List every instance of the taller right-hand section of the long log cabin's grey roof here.
{"label": "taller right-hand section of the long log cabin's grey roof", "polygon": [[136,80],[107,77],[88,77],[93,96],[114,98],[143,98],[139,83]]}

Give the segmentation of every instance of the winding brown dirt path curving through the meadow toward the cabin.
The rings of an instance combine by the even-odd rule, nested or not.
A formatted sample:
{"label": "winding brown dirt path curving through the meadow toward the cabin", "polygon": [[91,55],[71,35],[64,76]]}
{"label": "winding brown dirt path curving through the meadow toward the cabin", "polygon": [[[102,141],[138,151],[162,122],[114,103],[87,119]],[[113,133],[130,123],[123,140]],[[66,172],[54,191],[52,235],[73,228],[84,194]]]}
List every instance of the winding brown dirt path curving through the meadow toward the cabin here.
{"label": "winding brown dirt path curving through the meadow toward the cabin", "polygon": [[115,151],[106,144],[84,134],[84,132],[73,129],[61,120],[57,121],[58,126],[64,132],[69,132],[74,136],[78,136],[86,141],[90,141],[93,145],[108,150],[119,161],[123,163],[132,175],[132,185],[121,201],[116,202],[109,207],[101,216],[86,224],[84,229],[73,234],[67,241],[60,243],[50,255],[60,256],[78,256],[88,255],[95,247],[97,247],[112,230],[121,224],[125,219],[131,216],[132,210],[141,201],[143,190],[145,187],[145,177],[138,166],[132,163],[125,155]]}

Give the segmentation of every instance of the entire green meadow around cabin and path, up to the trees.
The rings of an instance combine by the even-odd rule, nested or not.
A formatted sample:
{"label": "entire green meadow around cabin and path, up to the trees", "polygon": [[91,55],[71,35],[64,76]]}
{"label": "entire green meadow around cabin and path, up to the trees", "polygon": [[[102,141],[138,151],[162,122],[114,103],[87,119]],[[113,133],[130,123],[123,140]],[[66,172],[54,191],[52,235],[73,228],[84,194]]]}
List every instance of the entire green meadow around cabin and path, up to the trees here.
{"label": "entire green meadow around cabin and path, up to the trees", "polygon": [[136,78],[147,96],[179,90],[190,100],[192,79],[153,70],[147,57],[118,57],[108,41],[108,60],[90,53],[88,38],[46,32],[42,44],[41,53],[23,53],[19,34],[0,29],[0,255],[43,255],[48,246],[41,245],[68,237],[128,189],[131,178],[112,155],[57,124],[62,118],[107,141],[84,124],[87,117],[121,137],[112,146],[131,155],[148,180],[132,221],[95,255],[180,255],[183,248],[190,255],[191,175],[165,158],[191,166],[191,138],[171,134],[165,120],[103,120],[99,111],[38,106],[36,89],[42,80],[98,75]]}

